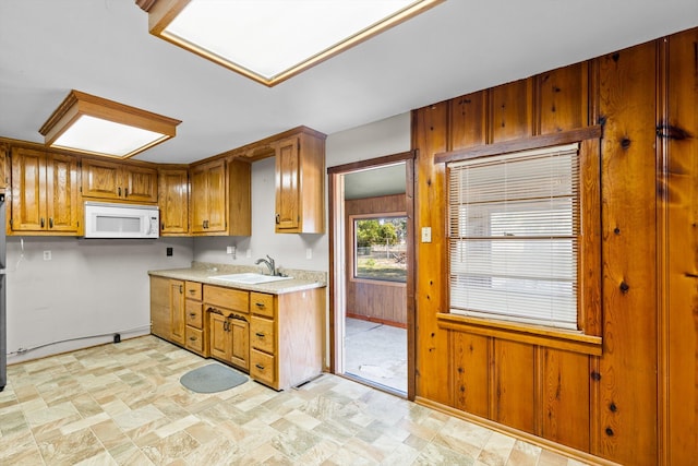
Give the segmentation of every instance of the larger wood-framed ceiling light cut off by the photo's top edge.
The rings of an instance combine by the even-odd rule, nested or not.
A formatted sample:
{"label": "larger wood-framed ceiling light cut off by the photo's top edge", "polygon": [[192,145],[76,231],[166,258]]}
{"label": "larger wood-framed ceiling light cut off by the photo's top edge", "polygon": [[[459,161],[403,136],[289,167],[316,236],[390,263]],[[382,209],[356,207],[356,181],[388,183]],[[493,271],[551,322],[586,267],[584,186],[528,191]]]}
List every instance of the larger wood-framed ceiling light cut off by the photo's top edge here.
{"label": "larger wood-framed ceiling light cut off by the photo's top edge", "polygon": [[445,0],[136,0],[151,34],[269,87]]}

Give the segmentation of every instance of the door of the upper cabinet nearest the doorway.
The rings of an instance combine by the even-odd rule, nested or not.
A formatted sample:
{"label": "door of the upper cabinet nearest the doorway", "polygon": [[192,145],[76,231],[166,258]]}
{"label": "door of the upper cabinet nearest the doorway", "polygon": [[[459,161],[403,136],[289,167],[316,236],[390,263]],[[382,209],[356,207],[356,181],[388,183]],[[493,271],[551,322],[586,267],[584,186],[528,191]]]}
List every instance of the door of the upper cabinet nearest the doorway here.
{"label": "door of the upper cabinet nearest the doorway", "polygon": [[298,138],[278,143],[276,148],[276,229],[298,229],[300,160]]}

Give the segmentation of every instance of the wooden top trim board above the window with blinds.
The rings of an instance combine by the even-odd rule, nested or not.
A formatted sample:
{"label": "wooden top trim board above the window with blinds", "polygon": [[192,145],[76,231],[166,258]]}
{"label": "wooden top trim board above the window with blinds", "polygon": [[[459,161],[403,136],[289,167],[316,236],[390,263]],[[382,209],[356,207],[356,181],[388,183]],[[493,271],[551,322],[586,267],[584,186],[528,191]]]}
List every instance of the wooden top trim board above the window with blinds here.
{"label": "wooden top trim board above the window with blinds", "polygon": [[594,124],[592,127],[561,131],[558,133],[542,134],[513,141],[503,141],[494,144],[478,145],[458,151],[442,152],[434,156],[434,164],[447,164],[450,162],[468,160],[491,155],[510,154],[513,152],[569,144],[585,140],[600,139],[602,136],[603,128],[600,124]]}

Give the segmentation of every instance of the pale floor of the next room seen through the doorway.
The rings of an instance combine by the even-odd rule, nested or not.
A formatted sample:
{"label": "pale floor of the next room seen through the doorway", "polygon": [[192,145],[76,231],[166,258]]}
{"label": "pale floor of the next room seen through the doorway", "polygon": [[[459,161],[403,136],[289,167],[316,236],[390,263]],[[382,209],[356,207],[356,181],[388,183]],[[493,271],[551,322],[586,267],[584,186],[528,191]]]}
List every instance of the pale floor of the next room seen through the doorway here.
{"label": "pale floor of the next room seen through the doorway", "polygon": [[407,394],[407,331],[347,318],[345,373]]}

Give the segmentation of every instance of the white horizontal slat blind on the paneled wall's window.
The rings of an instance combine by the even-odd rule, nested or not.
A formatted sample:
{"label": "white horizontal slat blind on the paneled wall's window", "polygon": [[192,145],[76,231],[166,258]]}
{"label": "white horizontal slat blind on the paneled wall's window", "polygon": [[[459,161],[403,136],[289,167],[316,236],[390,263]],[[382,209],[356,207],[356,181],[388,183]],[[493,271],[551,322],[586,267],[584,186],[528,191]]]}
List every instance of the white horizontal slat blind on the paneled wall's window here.
{"label": "white horizontal slat blind on the paneled wall's window", "polygon": [[448,165],[450,312],[577,330],[578,152]]}

